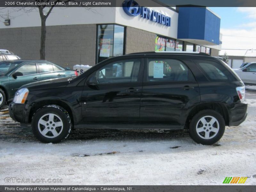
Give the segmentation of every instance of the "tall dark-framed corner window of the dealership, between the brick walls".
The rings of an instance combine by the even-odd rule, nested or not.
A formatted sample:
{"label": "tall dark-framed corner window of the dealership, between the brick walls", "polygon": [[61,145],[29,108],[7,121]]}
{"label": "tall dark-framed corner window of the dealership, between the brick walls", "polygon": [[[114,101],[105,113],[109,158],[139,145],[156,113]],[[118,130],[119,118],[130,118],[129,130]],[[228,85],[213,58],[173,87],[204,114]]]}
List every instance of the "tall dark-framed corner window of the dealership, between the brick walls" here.
{"label": "tall dark-framed corner window of the dealership, between the brick walls", "polygon": [[124,54],[124,27],[98,25],[97,63]]}

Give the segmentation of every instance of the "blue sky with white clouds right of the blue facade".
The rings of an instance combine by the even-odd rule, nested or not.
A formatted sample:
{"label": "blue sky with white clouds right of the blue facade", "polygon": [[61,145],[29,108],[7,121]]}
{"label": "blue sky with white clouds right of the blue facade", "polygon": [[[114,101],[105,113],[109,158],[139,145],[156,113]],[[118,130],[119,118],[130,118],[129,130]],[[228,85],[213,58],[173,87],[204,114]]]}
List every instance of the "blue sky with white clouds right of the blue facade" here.
{"label": "blue sky with white clouds right of the blue facade", "polygon": [[221,17],[222,49],[256,49],[256,7],[210,7]]}

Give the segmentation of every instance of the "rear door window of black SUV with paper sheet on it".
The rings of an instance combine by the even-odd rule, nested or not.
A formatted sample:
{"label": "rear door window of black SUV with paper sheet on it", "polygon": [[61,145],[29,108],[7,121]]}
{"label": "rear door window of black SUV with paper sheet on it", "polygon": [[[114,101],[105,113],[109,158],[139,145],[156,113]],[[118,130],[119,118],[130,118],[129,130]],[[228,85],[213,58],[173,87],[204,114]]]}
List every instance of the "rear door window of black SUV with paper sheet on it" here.
{"label": "rear door window of black SUV with paper sheet on it", "polygon": [[149,59],[147,81],[195,81],[188,67],[179,60]]}

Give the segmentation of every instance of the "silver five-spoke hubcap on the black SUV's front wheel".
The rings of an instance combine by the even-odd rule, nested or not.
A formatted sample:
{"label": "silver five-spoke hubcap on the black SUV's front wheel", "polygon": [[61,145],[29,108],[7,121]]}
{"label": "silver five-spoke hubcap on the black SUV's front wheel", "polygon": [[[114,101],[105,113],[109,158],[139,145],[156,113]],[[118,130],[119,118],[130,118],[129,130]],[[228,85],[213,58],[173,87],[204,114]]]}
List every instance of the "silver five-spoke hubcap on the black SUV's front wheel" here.
{"label": "silver five-spoke hubcap on the black SUV's front wheel", "polygon": [[38,130],[44,137],[55,138],[62,132],[63,122],[56,114],[48,113],[39,119]]}

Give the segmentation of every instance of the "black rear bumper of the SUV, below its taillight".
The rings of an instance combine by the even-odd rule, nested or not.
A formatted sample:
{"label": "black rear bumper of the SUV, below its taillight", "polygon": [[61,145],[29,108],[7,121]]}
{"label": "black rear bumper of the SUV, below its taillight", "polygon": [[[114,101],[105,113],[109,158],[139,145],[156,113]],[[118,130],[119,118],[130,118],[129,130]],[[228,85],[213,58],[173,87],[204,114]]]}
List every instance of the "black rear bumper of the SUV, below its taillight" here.
{"label": "black rear bumper of the SUV, below its taillight", "polygon": [[244,122],[247,117],[247,103],[234,103],[229,106],[229,127],[238,126]]}

